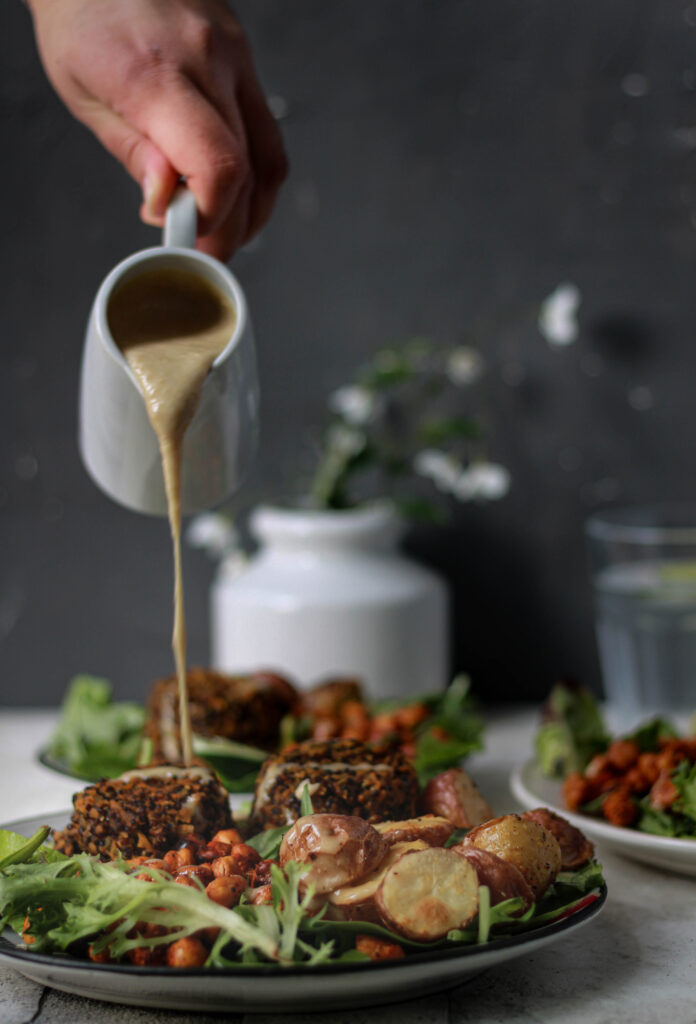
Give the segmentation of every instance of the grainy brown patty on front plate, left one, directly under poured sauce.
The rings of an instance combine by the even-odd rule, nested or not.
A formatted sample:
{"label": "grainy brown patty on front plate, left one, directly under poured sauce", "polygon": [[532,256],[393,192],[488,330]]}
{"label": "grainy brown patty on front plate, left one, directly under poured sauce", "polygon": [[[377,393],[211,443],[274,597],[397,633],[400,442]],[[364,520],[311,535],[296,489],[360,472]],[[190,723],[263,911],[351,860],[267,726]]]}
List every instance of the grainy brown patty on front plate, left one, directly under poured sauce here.
{"label": "grainy brown patty on front plate, left one, directly under poured sauce", "polygon": [[210,840],[233,824],[227,791],[209,769],[147,771],[126,772],[76,793],[70,823],[53,834],[55,849],[101,860],[119,854],[155,857],[193,833]]}

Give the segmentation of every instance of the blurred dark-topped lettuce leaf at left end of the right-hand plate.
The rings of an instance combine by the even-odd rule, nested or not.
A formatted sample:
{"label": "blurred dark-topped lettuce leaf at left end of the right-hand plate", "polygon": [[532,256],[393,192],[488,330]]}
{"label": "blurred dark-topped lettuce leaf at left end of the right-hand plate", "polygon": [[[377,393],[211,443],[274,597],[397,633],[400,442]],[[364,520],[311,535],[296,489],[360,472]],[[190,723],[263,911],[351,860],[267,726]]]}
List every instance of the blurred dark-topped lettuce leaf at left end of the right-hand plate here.
{"label": "blurred dark-topped lettuce leaf at left end of the right-hand plate", "polygon": [[609,743],[599,705],[579,686],[557,683],[543,709],[545,720],[534,737],[536,762],[550,778],[582,771]]}

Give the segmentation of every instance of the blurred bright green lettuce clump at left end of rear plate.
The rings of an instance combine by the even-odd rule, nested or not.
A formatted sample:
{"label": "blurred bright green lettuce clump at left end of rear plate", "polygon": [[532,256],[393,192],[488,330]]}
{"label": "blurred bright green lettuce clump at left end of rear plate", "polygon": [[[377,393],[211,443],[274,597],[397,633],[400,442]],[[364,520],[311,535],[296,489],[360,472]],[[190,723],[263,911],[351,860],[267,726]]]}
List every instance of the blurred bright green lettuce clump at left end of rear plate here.
{"label": "blurred bright green lettuce clump at left end of rear plate", "polygon": [[140,705],[112,699],[105,679],[76,676],[47,753],[90,781],[120,775],[138,763],[144,720]]}

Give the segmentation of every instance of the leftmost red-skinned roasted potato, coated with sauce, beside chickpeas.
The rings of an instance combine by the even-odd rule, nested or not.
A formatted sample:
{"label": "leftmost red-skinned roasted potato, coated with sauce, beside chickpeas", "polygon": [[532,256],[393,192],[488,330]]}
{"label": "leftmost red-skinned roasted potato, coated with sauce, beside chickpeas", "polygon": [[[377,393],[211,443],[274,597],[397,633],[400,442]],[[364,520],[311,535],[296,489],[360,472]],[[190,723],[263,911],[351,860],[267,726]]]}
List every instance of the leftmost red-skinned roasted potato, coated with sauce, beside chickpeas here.
{"label": "leftmost red-skinned roasted potato, coated with sauce, beside chickpeas", "polygon": [[280,844],[280,864],[307,864],[302,887],[317,895],[352,886],[384,860],[388,845],[362,818],[348,814],[307,814],[298,818]]}

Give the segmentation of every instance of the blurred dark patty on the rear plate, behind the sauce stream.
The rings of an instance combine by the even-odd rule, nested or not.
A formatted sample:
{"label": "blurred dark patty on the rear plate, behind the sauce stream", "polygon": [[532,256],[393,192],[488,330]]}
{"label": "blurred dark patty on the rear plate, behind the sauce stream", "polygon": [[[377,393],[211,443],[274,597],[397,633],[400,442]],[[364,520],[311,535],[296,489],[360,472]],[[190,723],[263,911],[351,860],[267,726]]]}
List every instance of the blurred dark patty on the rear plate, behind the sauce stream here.
{"label": "blurred dark patty on the rear plate, behind the sauce stream", "polygon": [[[270,672],[228,676],[194,668],[186,673],[186,686],[194,733],[223,736],[266,751],[277,746],[280,722],[298,701],[295,688]],[[180,760],[176,676],[155,683],[147,700],[145,735],[153,740],[155,759]]]}

